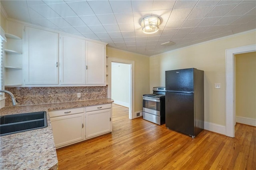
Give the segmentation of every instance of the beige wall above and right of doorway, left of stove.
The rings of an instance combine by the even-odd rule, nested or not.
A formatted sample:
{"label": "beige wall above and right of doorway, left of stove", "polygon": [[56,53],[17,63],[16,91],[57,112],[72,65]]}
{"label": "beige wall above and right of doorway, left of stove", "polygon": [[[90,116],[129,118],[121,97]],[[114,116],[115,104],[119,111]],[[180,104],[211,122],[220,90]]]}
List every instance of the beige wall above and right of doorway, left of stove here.
{"label": "beige wall above and right of doorway, left of stove", "polygon": [[106,53],[109,57],[134,61],[134,113],[142,111],[142,95],[152,92],[149,88],[149,57],[109,47]]}

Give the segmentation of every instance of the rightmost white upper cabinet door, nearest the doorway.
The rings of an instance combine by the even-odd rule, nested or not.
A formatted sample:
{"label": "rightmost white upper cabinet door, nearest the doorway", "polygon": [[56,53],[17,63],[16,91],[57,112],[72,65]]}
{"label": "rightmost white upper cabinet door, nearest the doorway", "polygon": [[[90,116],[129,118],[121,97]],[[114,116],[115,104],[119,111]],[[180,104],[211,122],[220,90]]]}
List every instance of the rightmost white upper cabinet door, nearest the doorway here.
{"label": "rightmost white upper cabinet door, nearest the doorway", "polygon": [[104,44],[86,41],[86,84],[106,85],[106,50]]}

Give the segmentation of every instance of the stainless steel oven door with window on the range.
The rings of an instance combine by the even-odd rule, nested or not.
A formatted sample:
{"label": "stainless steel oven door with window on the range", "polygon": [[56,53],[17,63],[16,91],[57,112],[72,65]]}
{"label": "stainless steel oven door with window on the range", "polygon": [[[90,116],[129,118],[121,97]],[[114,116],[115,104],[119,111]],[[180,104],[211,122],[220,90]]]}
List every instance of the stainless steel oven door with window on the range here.
{"label": "stainless steel oven door with window on the range", "polygon": [[160,99],[143,97],[143,111],[160,116]]}

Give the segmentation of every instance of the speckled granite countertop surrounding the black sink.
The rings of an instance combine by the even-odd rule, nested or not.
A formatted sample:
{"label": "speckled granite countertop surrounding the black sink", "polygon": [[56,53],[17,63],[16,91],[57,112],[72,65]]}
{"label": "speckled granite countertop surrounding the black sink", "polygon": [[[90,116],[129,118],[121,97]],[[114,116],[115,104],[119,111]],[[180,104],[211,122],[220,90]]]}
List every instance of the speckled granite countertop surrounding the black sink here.
{"label": "speckled granite countertop surrounding the black sink", "polygon": [[48,111],[108,103],[113,103],[113,100],[93,99],[2,108],[1,115],[46,111],[48,127],[1,136],[0,169],[57,170],[58,159]]}

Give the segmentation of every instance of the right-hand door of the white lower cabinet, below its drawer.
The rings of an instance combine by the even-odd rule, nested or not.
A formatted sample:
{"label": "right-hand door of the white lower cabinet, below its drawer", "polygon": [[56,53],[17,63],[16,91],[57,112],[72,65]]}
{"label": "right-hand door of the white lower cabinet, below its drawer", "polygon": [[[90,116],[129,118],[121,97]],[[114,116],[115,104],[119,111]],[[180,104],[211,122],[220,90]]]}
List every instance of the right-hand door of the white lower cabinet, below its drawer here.
{"label": "right-hand door of the white lower cabinet, below its drawer", "polygon": [[111,109],[86,112],[86,138],[111,132]]}

